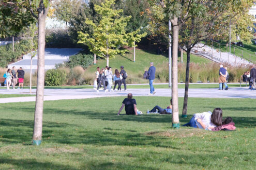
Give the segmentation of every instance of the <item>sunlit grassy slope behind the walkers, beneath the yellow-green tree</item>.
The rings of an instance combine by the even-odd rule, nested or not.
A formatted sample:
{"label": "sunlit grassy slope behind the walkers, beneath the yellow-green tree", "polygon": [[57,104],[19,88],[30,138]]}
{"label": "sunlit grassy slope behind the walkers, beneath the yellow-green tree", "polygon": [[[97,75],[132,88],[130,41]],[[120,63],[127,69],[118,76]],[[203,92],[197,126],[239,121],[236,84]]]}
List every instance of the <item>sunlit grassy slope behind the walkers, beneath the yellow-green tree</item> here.
{"label": "sunlit grassy slope behind the walkers, beneath the yellow-green tree", "polygon": [[[128,73],[141,73],[143,74],[145,70],[148,70],[149,67],[149,62],[154,62],[154,65],[157,67],[158,65],[162,65],[163,63],[169,62],[168,59],[168,54],[166,55],[157,55],[153,53],[148,53],[145,52],[144,50],[141,49],[136,49],[136,58],[135,62],[133,62],[133,50],[130,51],[130,53],[125,54],[123,56],[117,55],[115,58],[110,59],[109,61],[109,66],[112,67],[112,71],[114,72],[115,69],[120,70],[120,66],[124,66],[124,70]],[[186,53],[184,53],[184,59],[183,62],[187,61]],[[178,58],[180,61],[180,56]],[[191,55],[190,62],[195,62],[195,63],[207,63],[207,62],[212,62],[206,58],[200,57],[200,56],[195,56]],[[98,59],[96,65],[91,65],[88,67],[86,70],[89,73],[94,74],[96,71],[96,68],[99,66],[101,67],[106,67],[107,60],[104,59]]]}

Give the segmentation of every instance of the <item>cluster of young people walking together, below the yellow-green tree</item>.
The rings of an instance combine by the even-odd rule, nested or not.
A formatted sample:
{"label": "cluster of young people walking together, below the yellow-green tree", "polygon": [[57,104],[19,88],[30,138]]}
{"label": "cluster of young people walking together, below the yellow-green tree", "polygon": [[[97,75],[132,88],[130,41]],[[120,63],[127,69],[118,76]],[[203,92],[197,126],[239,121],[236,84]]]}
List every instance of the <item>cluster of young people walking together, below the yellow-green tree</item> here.
{"label": "cluster of young people walking together, below the yellow-green tree", "polygon": [[[127,78],[127,73],[124,70],[123,65],[120,68],[121,68],[121,71],[119,72],[116,69],[114,72],[114,75],[113,75],[111,67],[106,66],[105,68],[102,68],[101,70],[99,67],[97,67],[97,71],[95,73],[96,81],[97,81],[97,90],[96,91],[99,92],[99,88],[102,87],[102,85],[103,85],[103,90],[105,92],[115,91],[116,85],[118,85],[117,91],[121,91],[122,83],[124,83],[125,91],[127,91],[126,81],[125,81]],[[112,90],[112,86],[113,86],[112,81],[114,81],[113,90]]]}

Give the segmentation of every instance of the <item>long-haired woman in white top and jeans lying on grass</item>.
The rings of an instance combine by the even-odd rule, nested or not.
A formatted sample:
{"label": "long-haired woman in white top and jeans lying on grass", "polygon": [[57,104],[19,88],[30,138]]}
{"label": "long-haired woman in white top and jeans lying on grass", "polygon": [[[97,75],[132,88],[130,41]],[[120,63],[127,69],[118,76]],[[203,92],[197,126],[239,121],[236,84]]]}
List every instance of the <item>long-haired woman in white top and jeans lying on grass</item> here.
{"label": "long-haired woman in white top and jeans lying on grass", "polygon": [[195,113],[189,123],[183,126],[212,130],[222,125],[222,110],[215,108],[212,112]]}

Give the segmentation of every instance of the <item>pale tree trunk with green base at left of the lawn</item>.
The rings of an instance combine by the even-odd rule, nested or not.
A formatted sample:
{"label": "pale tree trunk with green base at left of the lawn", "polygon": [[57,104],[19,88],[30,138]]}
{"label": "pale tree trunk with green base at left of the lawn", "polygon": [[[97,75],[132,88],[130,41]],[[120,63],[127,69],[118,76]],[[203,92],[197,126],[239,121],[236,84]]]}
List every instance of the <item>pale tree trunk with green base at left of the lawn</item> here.
{"label": "pale tree trunk with green base at left of the lawn", "polygon": [[37,63],[37,90],[34,118],[33,144],[40,145],[42,140],[42,116],[43,116],[43,89],[44,89],[44,48],[46,16],[49,6],[45,8],[43,0],[40,0],[38,8],[38,63]]}

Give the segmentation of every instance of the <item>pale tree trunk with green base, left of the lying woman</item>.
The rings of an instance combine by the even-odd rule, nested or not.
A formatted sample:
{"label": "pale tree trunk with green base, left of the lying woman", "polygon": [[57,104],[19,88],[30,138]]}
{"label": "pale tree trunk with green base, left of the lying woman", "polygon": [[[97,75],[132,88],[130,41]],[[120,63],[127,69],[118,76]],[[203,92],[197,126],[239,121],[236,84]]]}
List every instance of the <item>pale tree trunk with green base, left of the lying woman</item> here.
{"label": "pale tree trunk with green base, left of the lying woman", "polygon": [[178,117],[178,18],[174,17],[172,22],[172,127],[179,128]]}

